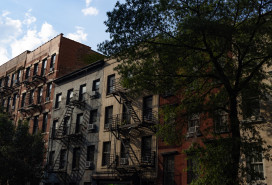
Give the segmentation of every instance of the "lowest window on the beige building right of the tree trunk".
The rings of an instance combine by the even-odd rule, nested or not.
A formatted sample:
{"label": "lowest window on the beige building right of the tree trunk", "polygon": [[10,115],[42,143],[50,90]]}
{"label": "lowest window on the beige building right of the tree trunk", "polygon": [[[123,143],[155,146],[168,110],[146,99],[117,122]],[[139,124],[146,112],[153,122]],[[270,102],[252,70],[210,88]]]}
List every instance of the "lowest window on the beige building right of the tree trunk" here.
{"label": "lowest window on the beige building right of the tree trunk", "polygon": [[254,152],[248,159],[250,170],[253,170],[254,176],[249,177],[251,180],[264,180],[263,157],[261,153]]}

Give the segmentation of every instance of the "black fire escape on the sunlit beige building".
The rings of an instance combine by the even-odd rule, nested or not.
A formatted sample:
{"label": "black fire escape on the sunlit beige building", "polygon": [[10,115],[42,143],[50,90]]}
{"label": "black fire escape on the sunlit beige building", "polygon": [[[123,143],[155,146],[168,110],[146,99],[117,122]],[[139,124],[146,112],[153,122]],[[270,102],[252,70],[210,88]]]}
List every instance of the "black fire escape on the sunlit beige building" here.
{"label": "black fire escape on the sunlit beige building", "polygon": [[151,145],[146,150],[141,138],[147,132],[155,133],[157,112],[144,108],[135,110],[133,106],[135,101],[130,97],[129,90],[121,86],[119,80],[113,82],[111,89],[111,94],[118,103],[123,104],[123,113],[114,115],[108,128],[115,138],[121,141],[121,152],[108,156],[108,168],[115,170],[120,178],[137,177],[152,180],[155,178],[157,152],[151,150]]}

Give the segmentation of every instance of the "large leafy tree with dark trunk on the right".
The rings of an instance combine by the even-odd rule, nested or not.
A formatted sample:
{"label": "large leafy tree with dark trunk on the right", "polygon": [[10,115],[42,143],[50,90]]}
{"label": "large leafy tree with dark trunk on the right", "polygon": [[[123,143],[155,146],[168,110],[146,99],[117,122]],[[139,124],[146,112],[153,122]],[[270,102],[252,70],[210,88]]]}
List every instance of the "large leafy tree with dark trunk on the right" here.
{"label": "large leafy tree with dark trunk on the right", "polygon": [[[226,166],[230,173],[226,174],[228,181],[221,182],[243,181],[244,171],[249,169],[239,160],[242,153],[252,154],[252,143],[269,158],[270,146],[255,126],[239,119],[239,110],[254,112],[242,97],[257,92],[265,99],[271,93],[265,81],[272,61],[271,1],[126,0],[117,2],[107,15],[111,40],[101,43],[99,50],[122,61],[116,70],[123,85],[136,92],[175,94],[180,99],[175,111],[179,115],[228,113],[226,150],[230,158]],[[167,111],[165,115],[169,120]],[[159,133],[169,136],[167,131],[173,129],[165,125]],[[175,122],[173,127],[177,126],[184,127],[184,121]],[[241,134],[245,132],[252,134]],[[209,153],[208,148],[202,147]],[[210,175],[201,169],[200,173],[196,184]]]}

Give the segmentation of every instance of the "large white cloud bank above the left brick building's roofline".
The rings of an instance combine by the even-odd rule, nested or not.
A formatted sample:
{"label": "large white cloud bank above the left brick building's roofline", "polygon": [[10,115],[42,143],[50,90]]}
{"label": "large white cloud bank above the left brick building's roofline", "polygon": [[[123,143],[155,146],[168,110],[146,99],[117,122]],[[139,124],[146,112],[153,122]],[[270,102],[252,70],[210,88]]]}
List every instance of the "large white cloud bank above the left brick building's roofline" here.
{"label": "large white cloud bank above the left brick building's roofline", "polygon": [[22,19],[13,19],[9,11],[2,11],[0,14],[0,64],[25,50],[37,48],[57,35],[53,26],[47,22],[37,28],[37,25],[33,24],[36,20],[36,17],[31,15],[31,9]]}

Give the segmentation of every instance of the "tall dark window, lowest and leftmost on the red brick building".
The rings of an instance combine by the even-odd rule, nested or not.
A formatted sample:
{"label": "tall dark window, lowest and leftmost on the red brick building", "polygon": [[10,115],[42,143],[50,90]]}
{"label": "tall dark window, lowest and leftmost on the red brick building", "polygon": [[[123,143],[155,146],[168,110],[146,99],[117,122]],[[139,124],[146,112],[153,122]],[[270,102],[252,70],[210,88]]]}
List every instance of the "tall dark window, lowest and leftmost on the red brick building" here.
{"label": "tall dark window, lowest and leftmost on the red brick building", "polygon": [[163,157],[163,184],[175,185],[175,156],[165,155]]}

